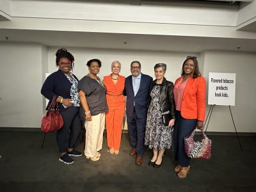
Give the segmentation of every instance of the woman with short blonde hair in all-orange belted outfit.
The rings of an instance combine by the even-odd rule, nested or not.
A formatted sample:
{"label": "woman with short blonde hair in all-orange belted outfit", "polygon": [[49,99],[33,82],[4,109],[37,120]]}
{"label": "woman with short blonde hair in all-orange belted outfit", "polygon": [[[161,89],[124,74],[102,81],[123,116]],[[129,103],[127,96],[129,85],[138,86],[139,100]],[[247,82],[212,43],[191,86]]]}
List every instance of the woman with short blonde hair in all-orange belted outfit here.
{"label": "woman with short blonde hair in all-orange belted outfit", "polygon": [[124,83],[125,77],[120,76],[121,63],[113,61],[111,64],[112,73],[104,77],[104,85],[106,87],[106,97],[108,102],[108,112],[106,113],[106,129],[109,152],[113,154],[119,153],[122,123],[125,110],[124,99]]}

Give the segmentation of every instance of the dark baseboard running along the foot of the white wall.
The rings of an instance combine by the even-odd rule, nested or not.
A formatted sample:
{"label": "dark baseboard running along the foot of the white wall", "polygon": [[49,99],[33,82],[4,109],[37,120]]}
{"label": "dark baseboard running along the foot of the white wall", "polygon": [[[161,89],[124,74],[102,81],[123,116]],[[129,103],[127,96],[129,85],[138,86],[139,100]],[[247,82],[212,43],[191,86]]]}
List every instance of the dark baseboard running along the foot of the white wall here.
{"label": "dark baseboard running along the foot of the white wall", "polygon": [[[0,131],[28,131],[28,132],[41,132],[39,127],[0,127]],[[104,130],[106,132],[106,129]],[[123,129],[122,133],[128,133],[127,129]],[[200,134],[200,131],[196,131],[195,134]],[[216,136],[236,136],[236,132],[213,132],[207,131],[207,135]],[[237,132],[238,136],[256,136],[256,132]]]}

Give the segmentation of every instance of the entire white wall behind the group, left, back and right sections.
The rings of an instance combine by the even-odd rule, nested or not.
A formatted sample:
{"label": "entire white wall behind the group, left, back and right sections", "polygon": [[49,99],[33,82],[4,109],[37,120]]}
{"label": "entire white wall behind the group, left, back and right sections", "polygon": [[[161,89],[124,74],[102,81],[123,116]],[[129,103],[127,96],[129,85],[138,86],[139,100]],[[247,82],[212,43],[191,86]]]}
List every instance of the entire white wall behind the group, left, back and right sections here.
{"label": "entire white wall behind the group, left, back and right sections", "polygon": [[[0,127],[40,127],[45,104],[40,88],[45,72],[54,72],[55,52],[58,47],[38,44],[0,44]],[[236,106],[231,107],[238,132],[256,132],[255,85],[256,55],[248,52],[204,51],[160,52],[67,47],[75,57],[74,74],[81,79],[88,73],[86,61],[102,61],[100,77],[110,74],[111,62],[122,63],[124,76],[131,74],[131,61],[139,60],[142,72],[154,77],[154,64],[167,64],[166,79],[175,81],[180,76],[186,56],[198,56],[200,70],[208,82],[209,72],[236,73]],[[207,111],[209,106],[207,107]],[[215,106],[208,131],[234,132],[227,106]]]}

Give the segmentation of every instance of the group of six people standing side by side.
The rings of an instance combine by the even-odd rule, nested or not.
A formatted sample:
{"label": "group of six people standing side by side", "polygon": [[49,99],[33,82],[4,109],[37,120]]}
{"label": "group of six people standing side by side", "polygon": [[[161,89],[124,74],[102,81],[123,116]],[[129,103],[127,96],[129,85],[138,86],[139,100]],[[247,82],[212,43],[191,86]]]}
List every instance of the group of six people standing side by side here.
{"label": "group of six people standing side by side", "polygon": [[205,79],[200,74],[197,58],[186,58],[181,76],[174,84],[164,77],[164,63],[154,66],[154,81],[141,73],[140,61],[132,61],[131,76],[126,78],[119,74],[121,63],[113,61],[111,74],[103,81],[97,76],[102,65],[100,60],[89,60],[86,65],[88,74],[77,79],[72,73],[74,56],[67,49],[58,49],[58,71],[47,77],[42,86],[41,93],[49,99],[49,104],[58,95],[56,102],[64,121],[56,134],[59,160],[71,164],[74,160],[70,156],[82,155],[74,147],[84,125],[84,155],[98,161],[105,122],[109,152],[118,154],[126,111],[132,146],[129,155],[136,156],[136,164],[143,163],[143,147],[147,145],[153,150],[148,165],[159,168],[164,150],[174,143],[177,162],[174,170],[178,177],[187,177],[190,159],[184,151],[184,137],[196,127],[202,129],[205,119]]}

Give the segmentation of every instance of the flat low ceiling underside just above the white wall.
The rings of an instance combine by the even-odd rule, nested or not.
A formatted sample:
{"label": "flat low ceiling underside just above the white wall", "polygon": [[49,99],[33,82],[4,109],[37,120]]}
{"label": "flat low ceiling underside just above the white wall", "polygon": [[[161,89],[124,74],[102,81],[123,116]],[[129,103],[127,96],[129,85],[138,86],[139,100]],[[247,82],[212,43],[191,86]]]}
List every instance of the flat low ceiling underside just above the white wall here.
{"label": "flat low ceiling underside just above the white wall", "polygon": [[[5,36],[8,36],[8,40],[6,40]],[[0,41],[31,42],[58,47],[92,47],[103,49],[182,52],[201,52],[205,50],[256,52],[256,40],[192,36],[0,29]]]}

